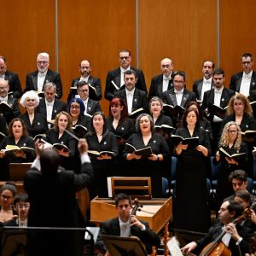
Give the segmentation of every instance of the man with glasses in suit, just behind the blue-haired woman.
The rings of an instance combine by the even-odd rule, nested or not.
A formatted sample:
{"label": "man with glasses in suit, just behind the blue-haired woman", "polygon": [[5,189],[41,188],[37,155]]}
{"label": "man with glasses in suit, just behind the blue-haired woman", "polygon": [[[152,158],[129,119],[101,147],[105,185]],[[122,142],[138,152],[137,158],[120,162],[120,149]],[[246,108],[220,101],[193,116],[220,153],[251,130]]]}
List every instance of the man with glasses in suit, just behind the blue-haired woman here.
{"label": "man with glasses in suit, just behind the blue-haired woman", "polygon": [[80,81],[77,84],[77,91],[79,98],[84,102],[84,114],[88,113],[93,115],[98,111],[102,111],[100,103],[90,99],[89,85],[85,81]]}

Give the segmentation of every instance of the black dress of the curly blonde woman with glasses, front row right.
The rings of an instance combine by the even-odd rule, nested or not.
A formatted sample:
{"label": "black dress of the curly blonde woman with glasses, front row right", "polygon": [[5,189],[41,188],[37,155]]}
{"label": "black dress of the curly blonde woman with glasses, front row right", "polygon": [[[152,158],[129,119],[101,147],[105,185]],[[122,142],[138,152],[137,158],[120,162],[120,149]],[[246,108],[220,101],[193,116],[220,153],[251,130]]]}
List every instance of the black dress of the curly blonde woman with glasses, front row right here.
{"label": "black dress of the curly blonde woman with glasses, front row right", "polygon": [[[232,146],[229,148],[222,147],[226,152],[231,154],[236,153],[247,153],[247,146],[245,143],[241,143],[241,148],[237,150]],[[234,172],[235,170],[247,170],[247,154],[242,158],[241,160],[238,160],[238,166],[237,165],[230,165],[227,160],[224,158],[224,155],[220,156],[220,167],[219,172],[217,174],[217,207],[220,207],[224,199],[230,195],[234,194],[234,189],[232,188],[232,183],[229,181],[229,175],[230,172]],[[217,208],[218,209],[218,208]]]}

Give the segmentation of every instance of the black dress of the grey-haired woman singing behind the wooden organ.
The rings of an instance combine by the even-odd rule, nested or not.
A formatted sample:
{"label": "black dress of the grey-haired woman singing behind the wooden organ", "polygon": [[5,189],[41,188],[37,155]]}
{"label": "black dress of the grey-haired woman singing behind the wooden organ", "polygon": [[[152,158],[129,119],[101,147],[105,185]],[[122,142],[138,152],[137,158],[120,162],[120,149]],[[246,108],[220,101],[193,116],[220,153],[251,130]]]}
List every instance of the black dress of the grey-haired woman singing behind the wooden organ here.
{"label": "black dress of the grey-haired woman singing behind the wooden organ", "polygon": [[[148,160],[148,159],[133,159],[125,161],[125,176],[126,177],[151,177],[151,187],[153,197],[163,197],[162,194],[162,174],[169,172],[165,169],[165,161],[170,159],[170,152],[168,145],[160,134],[152,133],[152,137],[145,145],[143,142],[143,135],[135,133],[128,138],[127,143],[134,146],[136,149],[151,147],[153,154],[162,154],[163,161]],[[125,154],[126,156],[126,154]]]}

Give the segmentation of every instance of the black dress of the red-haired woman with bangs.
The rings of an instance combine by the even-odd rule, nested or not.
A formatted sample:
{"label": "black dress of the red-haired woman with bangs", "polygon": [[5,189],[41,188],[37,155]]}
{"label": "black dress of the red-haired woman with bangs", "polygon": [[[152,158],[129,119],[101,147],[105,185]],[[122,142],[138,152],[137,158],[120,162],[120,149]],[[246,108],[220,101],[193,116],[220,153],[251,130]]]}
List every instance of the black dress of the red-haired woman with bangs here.
{"label": "black dress of the red-haired woman with bangs", "polygon": [[110,116],[107,119],[107,127],[108,131],[113,132],[115,137],[117,138],[118,146],[119,146],[119,154],[116,158],[114,167],[113,167],[113,174],[117,176],[124,176],[124,158],[123,158],[123,150],[124,145],[128,137],[134,133],[134,122],[132,119],[124,119],[119,120],[119,124],[117,125],[116,129],[113,128],[113,116]]}

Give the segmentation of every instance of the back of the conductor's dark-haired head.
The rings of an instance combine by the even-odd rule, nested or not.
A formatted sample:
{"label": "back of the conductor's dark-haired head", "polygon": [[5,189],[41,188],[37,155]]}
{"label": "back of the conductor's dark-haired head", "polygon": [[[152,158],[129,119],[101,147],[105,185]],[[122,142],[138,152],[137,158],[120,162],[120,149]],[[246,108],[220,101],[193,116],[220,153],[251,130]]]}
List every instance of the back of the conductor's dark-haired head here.
{"label": "back of the conductor's dark-haired head", "polygon": [[40,155],[41,172],[43,176],[54,176],[60,166],[61,158],[53,148],[45,148]]}

